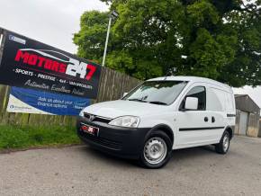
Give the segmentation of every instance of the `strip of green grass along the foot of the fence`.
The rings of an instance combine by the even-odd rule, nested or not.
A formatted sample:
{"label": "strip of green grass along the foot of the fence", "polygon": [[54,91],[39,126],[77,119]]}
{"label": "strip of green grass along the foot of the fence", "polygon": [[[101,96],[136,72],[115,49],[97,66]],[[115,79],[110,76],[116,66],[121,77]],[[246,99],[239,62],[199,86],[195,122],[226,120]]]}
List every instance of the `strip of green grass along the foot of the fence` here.
{"label": "strip of green grass along the foot of the fence", "polygon": [[0,150],[80,144],[75,127],[0,125]]}

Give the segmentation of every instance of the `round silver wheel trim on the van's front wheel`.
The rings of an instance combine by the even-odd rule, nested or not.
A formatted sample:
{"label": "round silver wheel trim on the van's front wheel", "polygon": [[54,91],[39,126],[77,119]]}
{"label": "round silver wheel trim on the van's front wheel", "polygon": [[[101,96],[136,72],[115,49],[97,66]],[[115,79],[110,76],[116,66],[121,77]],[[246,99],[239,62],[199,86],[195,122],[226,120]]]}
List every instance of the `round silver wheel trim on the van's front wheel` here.
{"label": "round silver wheel trim on the van's front wheel", "polygon": [[151,165],[157,165],[166,158],[167,147],[163,138],[149,138],[143,150],[145,160]]}

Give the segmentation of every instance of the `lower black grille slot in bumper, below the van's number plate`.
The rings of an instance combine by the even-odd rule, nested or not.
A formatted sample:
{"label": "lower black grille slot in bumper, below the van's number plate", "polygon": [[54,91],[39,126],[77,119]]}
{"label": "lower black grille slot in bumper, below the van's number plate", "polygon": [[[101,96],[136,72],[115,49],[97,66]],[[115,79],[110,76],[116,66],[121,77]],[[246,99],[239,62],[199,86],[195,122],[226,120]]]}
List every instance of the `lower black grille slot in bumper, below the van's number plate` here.
{"label": "lower black grille slot in bumper, below the van's number plate", "polygon": [[114,141],[112,139],[107,139],[107,138],[100,138],[100,137],[95,137],[90,134],[87,134],[85,132],[80,133],[84,138],[87,138],[91,141],[93,141],[96,144],[102,145],[103,147],[109,147],[115,150],[121,150],[122,143]]}

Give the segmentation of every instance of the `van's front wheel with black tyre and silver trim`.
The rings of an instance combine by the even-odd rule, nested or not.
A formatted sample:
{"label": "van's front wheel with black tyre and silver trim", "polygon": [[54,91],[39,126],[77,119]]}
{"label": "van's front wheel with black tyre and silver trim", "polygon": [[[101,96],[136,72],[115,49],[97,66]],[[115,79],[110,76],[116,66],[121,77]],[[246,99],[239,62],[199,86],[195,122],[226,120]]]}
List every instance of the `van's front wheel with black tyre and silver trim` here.
{"label": "van's front wheel with black tyre and silver trim", "polygon": [[139,156],[139,164],[151,168],[160,168],[169,161],[172,152],[172,142],[165,132],[153,131],[143,145]]}

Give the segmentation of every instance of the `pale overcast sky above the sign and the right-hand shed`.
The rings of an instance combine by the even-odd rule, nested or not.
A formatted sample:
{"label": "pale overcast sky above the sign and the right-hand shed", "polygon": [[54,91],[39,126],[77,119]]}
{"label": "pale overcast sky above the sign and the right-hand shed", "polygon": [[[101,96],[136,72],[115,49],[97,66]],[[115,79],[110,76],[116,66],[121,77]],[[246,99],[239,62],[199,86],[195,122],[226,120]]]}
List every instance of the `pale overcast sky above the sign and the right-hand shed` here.
{"label": "pale overcast sky above the sign and the right-hand shed", "polygon": [[[0,27],[33,40],[76,53],[73,33],[79,31],[85,11],[107,11],[99,0],[0,0]],[[261,108],[261,86],[233,88],[235,94],[249,94]]]}

